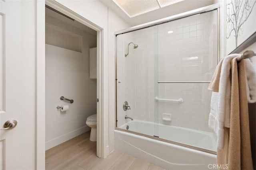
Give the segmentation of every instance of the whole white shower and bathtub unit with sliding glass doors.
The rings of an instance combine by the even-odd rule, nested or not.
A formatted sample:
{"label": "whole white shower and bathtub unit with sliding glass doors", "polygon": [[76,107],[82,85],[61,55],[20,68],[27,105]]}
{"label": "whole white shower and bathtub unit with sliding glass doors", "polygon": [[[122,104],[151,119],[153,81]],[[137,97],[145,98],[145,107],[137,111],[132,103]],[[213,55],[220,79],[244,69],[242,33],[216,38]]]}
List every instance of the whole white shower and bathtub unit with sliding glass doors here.
{"label": "whole white shower and bathtub unit with sliding glass doors", "polygon": [[116,150],[166,169],[216,164],[207,87],[218,18],[214,4],[115,33]]}

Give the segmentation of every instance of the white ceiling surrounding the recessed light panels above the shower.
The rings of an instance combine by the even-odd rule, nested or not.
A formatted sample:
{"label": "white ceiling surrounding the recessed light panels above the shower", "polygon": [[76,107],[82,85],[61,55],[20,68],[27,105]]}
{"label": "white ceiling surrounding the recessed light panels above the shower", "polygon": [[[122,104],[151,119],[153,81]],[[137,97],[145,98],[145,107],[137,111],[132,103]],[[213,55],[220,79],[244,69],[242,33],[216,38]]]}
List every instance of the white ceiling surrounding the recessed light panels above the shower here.
{"label": "white ceiling surrounding the recessed light panels above the shower", "polygon": [[[216,2],[216,0],[182,0],[182,1],[176,1],[176,3],[166,5],[166,6],[163,3],[162,8],[159,8],[158,6],[157,9],[154,9],[154,5],[152,5],[152,4],[155,4],[153,2],[154,0],[150,0],[150,2],[152,2],[152,4],[149,5],[151,6],[150,7],[151,10],[146,11],[146,13],[145,11],[141,12],[140,10],[137,10],[137,14],[140,13],[139,15],[136,15],[135,14],[136,12],[133,11],[134,13],[131,12],[130,16],[128,16],[129,13],[124,12],[113,0],[100,0],[100,1],[104,5],[106,5],[108,8],[113,10],[118,16],[120,16],[123,20],[125,20],[131,26],[140,25],[142,23],[147,23],[154,20],[159,20],[162,18],[166,18],[169,16],[173,16],[176,14],[180,14],[180,13],[201,8],[204,6],[208,6]],[[140,4],[140,9],[144,9],[144,8],[146,9],[146,7],[144,7],[143,4],[148,0],[118,0],[118,1],[121,1],[122,3],[125,3],[125,2],[130,4],[132,3],[132,5],[129,6],[129,9],[135,6],[139,6],[138,4]],[[161,0],[161,1],[170,3],[170,0]],[[132,11],[132,9],[130,9],[130,11]]]}

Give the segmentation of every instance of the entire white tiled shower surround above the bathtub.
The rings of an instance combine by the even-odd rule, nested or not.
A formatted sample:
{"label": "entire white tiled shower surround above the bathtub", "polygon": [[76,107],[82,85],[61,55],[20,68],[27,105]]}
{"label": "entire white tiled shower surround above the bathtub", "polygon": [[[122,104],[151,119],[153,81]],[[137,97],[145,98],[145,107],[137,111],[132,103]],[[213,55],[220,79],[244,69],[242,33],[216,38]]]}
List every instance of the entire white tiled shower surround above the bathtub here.
{"label": "entire white tiled shower surround above the bathtub", "polygon": [[[208,84],[158,84],[157,81],[209,81],[217,64],[217,12],[212,11],[118,35],[118,126],[135,119],[208,129],[211,92]],[[168,31],[173,31],[169,34]],[[124,57],[129,42],[128,57]],[[191,58],[194,57],[194,58]],[[156,102],[154,97],[183,98],[183,103]],[[131,106],[123,111],[123,102]],[[172,121],[162,120],[171,113]]]}

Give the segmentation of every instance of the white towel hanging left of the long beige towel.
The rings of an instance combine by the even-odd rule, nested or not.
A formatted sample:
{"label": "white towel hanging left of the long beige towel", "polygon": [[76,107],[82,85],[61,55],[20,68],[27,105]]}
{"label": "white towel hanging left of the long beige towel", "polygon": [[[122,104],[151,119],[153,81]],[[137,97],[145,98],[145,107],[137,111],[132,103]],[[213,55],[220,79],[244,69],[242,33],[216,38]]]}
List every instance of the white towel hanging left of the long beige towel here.
{"label": "white towel hanging left of the long beige towel", "polygon": [[224,127],[230,127],[231,61],[239,56],[239,54],[232,54],[224,58],[220,72],[219,91],[212,92],[208,125],[216,133],[217,147],[220,149],[224,146]]}

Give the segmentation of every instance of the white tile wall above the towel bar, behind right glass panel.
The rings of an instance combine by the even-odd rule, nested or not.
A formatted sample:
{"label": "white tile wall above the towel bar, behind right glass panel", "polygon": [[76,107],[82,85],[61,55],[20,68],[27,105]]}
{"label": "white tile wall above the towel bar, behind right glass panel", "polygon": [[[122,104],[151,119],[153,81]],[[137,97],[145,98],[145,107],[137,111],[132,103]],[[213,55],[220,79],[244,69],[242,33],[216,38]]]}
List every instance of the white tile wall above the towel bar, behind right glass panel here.
{"label": "white tile wall above the towel bar, behind right glass panel", "polygon": [[217,18],[212,16],[216,11],[158,25],[160,81],[210,80],[217,63]]}

